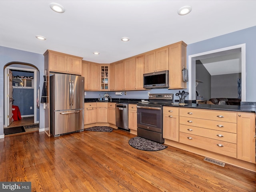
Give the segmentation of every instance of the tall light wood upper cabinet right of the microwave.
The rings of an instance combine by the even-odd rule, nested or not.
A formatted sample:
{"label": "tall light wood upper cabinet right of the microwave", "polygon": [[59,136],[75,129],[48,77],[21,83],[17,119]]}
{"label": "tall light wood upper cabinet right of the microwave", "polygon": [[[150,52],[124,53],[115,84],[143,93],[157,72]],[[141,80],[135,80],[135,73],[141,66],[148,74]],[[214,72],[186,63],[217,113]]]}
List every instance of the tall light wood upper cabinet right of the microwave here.
{"label": "tall light wood upper cabinet right of the microwave", "polygon": [[186,89],[182,69],[186,68],[186,47],[183,41],[169,46],[169,89]]}

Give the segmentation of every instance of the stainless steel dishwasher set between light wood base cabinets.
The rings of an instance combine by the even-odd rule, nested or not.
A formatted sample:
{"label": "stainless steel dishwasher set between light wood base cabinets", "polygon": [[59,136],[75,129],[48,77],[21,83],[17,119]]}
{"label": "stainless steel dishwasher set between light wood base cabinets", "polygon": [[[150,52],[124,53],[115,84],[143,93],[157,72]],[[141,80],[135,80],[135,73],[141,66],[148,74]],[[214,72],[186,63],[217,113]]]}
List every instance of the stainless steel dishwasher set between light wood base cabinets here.
{"label": "stainless steel dishwasher set between light wood base cabinets", "polygon": [[128,104],[116,103],[116,126],[129,130],[128,127]]}

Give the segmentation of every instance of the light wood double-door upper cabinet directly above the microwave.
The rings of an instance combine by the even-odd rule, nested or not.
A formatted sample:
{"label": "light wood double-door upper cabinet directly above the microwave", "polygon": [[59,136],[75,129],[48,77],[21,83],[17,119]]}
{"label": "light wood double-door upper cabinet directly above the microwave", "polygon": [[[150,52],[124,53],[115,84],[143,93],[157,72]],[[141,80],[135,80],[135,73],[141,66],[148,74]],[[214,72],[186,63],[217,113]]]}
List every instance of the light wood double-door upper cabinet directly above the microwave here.
{"label": "light wood double-door upper cabinet directly above the microwave", "polygon": [[168,70],[168,47],[160,48],[145,54],[145,73]]}

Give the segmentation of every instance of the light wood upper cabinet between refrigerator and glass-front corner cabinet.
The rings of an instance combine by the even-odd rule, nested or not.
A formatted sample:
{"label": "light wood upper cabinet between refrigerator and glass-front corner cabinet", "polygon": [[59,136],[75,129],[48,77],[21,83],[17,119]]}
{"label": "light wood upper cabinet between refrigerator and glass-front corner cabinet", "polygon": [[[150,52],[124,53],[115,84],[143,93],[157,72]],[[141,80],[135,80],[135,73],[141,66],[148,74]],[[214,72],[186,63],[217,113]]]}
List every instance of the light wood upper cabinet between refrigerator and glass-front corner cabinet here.
{"label": "light wood upper cabinet between refrigerator and glass-front corner cabinet", "polygon": [[100,64],[83,60],[82,76],[84,77],[84,90],[100,90]]}

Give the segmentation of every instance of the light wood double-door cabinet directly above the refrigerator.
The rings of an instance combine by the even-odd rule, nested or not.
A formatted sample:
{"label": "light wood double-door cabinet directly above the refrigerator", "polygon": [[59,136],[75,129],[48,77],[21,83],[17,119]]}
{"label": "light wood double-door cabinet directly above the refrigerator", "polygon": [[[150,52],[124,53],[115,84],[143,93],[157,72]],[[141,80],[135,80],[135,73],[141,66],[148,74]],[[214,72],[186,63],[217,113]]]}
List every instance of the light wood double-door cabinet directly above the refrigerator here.
{"label": "light wood double-door cabinet directly above the refrigerator", "polygon": [[48,65],[51,72],[82,75],[82,57],[52,50],[47,50],[44,56],[48,57]]}

